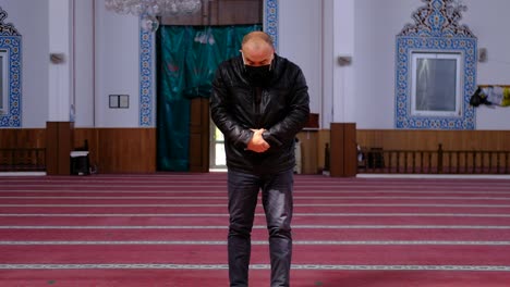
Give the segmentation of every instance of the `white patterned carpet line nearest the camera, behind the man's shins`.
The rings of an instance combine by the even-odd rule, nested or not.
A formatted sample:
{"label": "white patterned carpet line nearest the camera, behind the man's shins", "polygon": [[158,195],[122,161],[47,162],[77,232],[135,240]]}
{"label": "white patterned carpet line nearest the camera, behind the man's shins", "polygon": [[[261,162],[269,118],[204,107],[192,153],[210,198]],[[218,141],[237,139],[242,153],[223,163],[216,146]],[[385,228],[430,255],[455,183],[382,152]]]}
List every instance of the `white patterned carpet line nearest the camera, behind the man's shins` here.
{"label": "white patterned carpet line nearest the camera, behind the man's shins", "polygon": [[[228,270],[227,264],[151,264],[151,263],[97,263],[97,264],[0,264],[0,270]],[[269,264],[251,264],[251,270],[270,270]],[[510,272],[505,265],[337,265],[292,264],[292,270],[302,271],[459,271],[459,272]]]}

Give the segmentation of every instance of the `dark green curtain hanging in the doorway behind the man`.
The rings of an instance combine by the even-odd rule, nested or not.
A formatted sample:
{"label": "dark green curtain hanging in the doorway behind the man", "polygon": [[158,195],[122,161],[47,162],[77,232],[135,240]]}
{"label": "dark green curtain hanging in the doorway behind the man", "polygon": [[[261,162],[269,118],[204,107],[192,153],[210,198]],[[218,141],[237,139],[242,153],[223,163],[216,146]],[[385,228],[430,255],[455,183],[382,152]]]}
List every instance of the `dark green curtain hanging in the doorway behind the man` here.
{"label": "dark green curtain hanging in the doorway behind the man", "polygon": [[208,98],[216,68],[262,25],[160,26],[157,32],[158,171],[189,171],[191,99]]}

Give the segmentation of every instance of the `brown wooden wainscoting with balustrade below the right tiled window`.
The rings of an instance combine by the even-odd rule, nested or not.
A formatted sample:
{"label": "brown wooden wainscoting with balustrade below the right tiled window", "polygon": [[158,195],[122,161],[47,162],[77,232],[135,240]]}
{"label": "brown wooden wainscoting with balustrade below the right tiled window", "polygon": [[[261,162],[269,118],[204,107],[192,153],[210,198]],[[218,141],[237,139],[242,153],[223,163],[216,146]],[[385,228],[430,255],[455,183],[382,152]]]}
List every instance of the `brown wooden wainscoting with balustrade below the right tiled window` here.
{"label": "brown wooden wainscoting with balustrade below the right tiled window", "polygon": [[510,130],[357,130],[363,172],[508,174]]}

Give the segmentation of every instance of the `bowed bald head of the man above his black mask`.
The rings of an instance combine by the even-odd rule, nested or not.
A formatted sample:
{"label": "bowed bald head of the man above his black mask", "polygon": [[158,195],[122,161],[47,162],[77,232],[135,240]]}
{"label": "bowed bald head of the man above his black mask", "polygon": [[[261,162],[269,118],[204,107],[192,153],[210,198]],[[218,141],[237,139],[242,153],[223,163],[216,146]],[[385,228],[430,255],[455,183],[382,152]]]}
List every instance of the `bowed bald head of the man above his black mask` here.
{"label": "bowed bald head of the man above his black mask", "polygon": [[272,39],[264,32],[248,33],[243,38],[241,52],[246,65],[268,65],[275,54]]}

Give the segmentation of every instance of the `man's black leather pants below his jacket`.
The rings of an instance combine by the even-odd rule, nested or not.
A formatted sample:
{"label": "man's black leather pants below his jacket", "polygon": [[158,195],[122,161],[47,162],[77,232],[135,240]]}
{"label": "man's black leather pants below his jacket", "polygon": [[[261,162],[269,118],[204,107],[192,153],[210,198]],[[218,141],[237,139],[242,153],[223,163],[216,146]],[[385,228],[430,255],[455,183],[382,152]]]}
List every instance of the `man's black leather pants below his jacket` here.
{"label": "man's black leather pants below his jacket", "polygon": [[266,213],[271,261],[271,287],[288,287],[292,257],[293,171],[279,174],[245,174],[229,171],[228,237],[231,287],[248,286],[251,233],[258,191]]}

